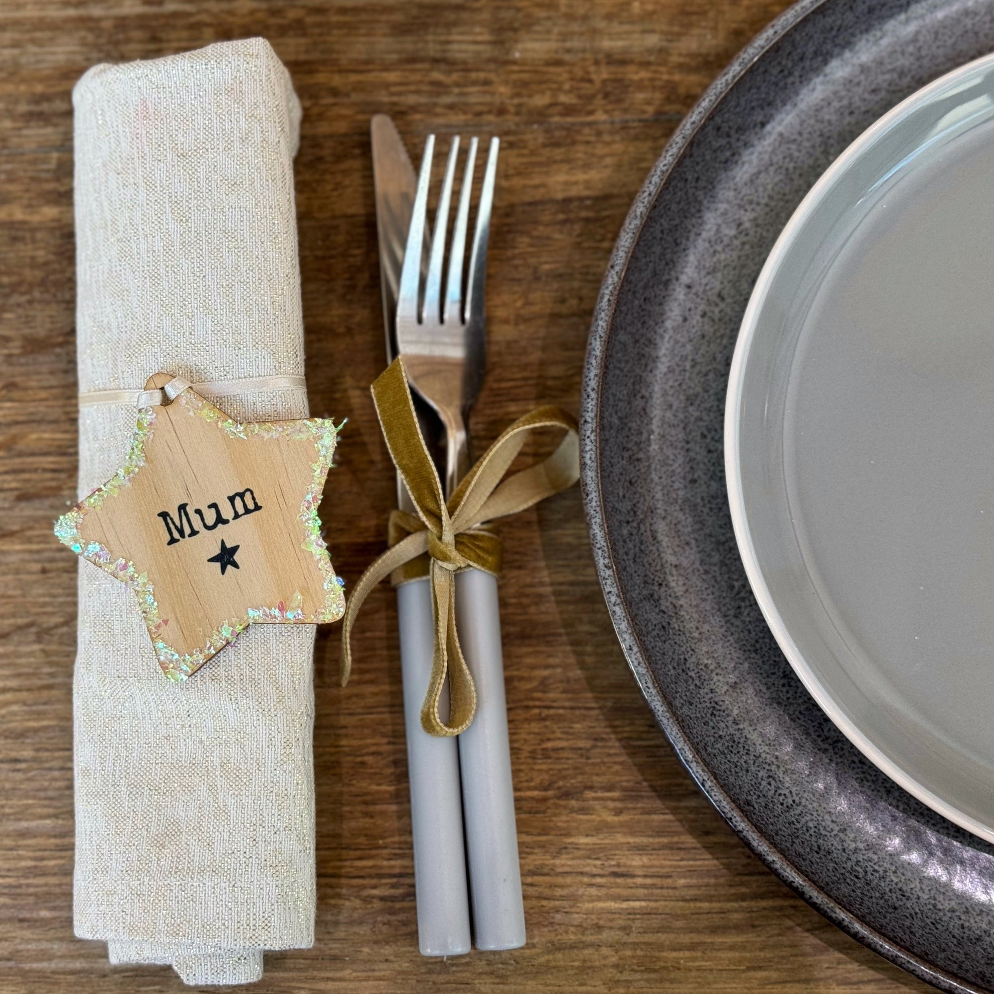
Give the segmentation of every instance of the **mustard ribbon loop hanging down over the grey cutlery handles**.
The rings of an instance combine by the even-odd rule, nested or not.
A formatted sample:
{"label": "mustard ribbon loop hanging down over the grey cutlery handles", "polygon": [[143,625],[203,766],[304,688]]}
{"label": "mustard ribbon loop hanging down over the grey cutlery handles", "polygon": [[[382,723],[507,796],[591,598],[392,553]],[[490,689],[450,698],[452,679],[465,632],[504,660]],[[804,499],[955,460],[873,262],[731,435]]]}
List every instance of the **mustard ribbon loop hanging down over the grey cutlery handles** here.
{"label": "mustard ribbon loop hanging down over the grey cutlery handles", "polygon": [[[476,687],[462,655],[455,628],[455,574],[431,564],[431,599],[435,614],[435,643],[431,678],[421,705],[421,728],[435,738],[457,736],[469,728],[476,714]],[[451,663],[451,665],[449,665]],[[438,699],[448,676],[448,722],[438,714]]]}

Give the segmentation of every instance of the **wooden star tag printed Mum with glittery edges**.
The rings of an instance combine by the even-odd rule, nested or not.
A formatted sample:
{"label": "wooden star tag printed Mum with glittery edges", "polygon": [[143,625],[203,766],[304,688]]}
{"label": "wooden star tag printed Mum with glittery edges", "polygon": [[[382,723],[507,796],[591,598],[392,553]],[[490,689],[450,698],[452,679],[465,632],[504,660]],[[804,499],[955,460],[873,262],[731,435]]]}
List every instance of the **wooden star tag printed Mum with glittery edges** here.
{"label": "wooden star tag printed Mum with glittery edges", "polygon": [[185,680],[253,622],[321,624],[345,597],[317,508],[332,421],[240,423],[158,373],[124,465],[56,536],[138,598],[159,665]]}

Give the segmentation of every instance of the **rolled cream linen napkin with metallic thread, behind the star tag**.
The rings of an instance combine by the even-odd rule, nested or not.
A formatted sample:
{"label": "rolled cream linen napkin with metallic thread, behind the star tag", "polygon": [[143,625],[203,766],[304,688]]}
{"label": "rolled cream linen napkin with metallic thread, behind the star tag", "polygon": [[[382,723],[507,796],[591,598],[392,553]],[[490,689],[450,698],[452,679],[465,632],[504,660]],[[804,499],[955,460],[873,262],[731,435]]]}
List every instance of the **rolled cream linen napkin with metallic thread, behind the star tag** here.
{"label": "rolled cream linen napkin with metallic thread, behind the star tag", "polygon": [[[251,420],[307,396],[300,105],[268,43],[97,66],[74,104],[82,496],[135,424],[107,391],[254,380],[217,402]],[[84,562],[79,586],[77,934],[189,984],[256,980],[264,949],[313,942],[314,629],[253,625],[175,684],[132,592]]]}

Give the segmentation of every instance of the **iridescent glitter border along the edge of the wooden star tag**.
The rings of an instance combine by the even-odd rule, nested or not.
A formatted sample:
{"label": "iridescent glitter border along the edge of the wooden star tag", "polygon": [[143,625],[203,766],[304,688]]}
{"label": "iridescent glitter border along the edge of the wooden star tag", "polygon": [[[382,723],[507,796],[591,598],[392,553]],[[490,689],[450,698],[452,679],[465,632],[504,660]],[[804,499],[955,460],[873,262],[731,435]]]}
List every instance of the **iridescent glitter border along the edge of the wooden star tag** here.
{"label": "iridescent glitter border along the edge of the wooden star tag", "polygon": [[128,486],[138,470],[145,464],[145,446],[152,434],[155,421],[153,408],[139,408],[138,420],[131,436],[131,444],[124,465],[104,484],[89,493],[72,510],[62,515],[55,525],[55,535],[63,545],[68,546],[78,556],[99,567],[116,580],[120,580],[133,590],[141,611],[145,627],[152,639],[152,646],[163,673],[175,682],[182,682],[196,673],[209,659],[217,655],[226,645],[230,645],[252,622],[261,624],[324,624],[337,621],[345,612],[344,580],[335,574],[328,554],[328,547],[321,535],[321,519],[317,509],[321,502],[324,483],[331,468],[335,447],[338,442],[338,428],[334,421],[324,417],[303,418],[290,421],[249,421],[241,422],[229,417],[199,395],[186,390],[176,402],[190,414],[202,417],[217,425],[226,434],[235,438],[248,438],[258,435],[265,438],[287,435],[293,438],[311,438],[317,452],[317,460],[311,463],[314,475],[310,487],[300,504],[298,520],[303,525],[304,540],[302,549],[311,553],[321,572],[325,599],[316,614],[305,614],[300,606],[301,595],[295,591],[288,605],[280,600],[274,607],[249,607],[246,617],[228,620],[211,632],[206,644],[190,653],[177,652],[162,637],[169,623],[168,618],[159,616],[159,605],[151,581],[145,573],[139,573],[134,564],[124,559],[113,559],[110,551],[98,542],[84,543],[79,527],[87,511],[99,508],[107,497],[112,497],[122,487]]}

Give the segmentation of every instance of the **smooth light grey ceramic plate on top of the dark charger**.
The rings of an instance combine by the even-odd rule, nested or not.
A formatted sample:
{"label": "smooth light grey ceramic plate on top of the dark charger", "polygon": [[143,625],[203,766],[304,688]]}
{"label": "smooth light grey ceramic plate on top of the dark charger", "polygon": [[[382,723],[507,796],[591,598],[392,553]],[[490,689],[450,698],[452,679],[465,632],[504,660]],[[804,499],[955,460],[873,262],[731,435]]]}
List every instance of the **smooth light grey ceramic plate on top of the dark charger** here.
{"label": "smooth light grey ceramic plate on top of the dark charger", "polygon": [[850,741],[994,841],[994,57],[832,164],[732,362],[732,520],[776,640]]}

